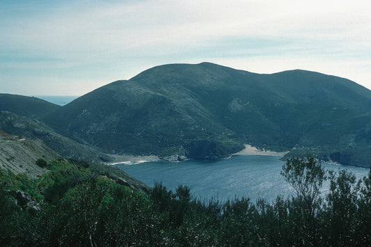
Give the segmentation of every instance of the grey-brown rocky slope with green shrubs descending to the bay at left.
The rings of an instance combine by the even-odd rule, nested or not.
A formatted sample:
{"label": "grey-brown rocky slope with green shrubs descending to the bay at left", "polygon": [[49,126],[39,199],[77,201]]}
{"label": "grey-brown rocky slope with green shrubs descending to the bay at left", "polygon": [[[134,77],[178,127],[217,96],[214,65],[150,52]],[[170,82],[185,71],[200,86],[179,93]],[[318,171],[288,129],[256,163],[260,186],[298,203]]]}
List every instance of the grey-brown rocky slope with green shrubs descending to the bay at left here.
{"label": "grey-brown rocky slope with green shrubs descending to the bay at left", "polygon": [[[10,183],[8,180],[12,178],[20,180],[22,177],[25,180],[38,180],[42,177],[42,180],[47,180],[49,186],[52,186],[61,180],[70,180],[84,169],[88,175],[81,173],[81,178],[85,176],[86,180],[92,177],[104,177],[134,191],[145,194],[150,192],[150,187],[123,170],[104,164],[88,164],[85,161],[64,159],[37,138],[22,138],[0,132],[0,150],[0,186],[12,185],[13,182]],[[40,160],[44,163],[40,164]],[[80,178],[75,177],[75,180],[78,182]],[[24,190],[22,186],[17,189]]]}

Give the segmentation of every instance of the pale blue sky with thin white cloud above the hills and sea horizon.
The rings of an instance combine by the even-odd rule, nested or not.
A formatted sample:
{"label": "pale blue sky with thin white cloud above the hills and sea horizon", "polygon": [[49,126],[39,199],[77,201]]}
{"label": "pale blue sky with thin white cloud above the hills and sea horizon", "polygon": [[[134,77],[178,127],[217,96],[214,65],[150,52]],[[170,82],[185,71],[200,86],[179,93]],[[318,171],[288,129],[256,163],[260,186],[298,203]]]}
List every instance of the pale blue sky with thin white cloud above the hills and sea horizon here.
{"label": "pale blue sky with thin white cloud above the hills and sea horizon", "polygon": [[371,89],[371,1],[0,0],[0,93],[84,95],[168,63]]}

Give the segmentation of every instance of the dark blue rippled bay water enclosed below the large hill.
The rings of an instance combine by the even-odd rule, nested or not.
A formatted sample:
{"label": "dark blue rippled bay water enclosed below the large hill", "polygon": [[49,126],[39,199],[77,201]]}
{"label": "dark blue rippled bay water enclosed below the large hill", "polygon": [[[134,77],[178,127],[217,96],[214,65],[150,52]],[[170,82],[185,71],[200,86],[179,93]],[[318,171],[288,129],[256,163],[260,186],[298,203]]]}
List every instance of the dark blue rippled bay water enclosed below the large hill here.
{"label": "dark blue rippled bay water enclosed below the large hill", "polygon": [[[272,156],[236,155],[218,161],[152,161],[116,166],[148,186],[162,182],[168,189],[175,190],[180,184],[187,185],[191,188],[191,194],[200,200],[218,198],[225,201],[235,196],[244,196],[253,202],[258,198],[271,202],[278,195],[290,196],[294,193],[280,175],[284,162],[279,159]],[[347,168],[358,178],[368,174],[367,168],[322,165],[335,171]]]}

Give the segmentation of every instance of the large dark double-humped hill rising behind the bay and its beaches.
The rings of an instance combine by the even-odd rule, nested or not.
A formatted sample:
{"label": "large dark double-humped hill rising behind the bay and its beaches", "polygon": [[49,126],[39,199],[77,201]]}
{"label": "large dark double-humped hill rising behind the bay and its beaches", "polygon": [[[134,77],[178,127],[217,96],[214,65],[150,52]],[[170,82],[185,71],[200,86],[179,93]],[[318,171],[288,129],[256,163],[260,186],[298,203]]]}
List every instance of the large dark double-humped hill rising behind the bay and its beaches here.
{"label": "large dark double-humped hill rising behind the bay and its beaches", "polygon": [[368,164],[370,90],[292,70],[161,65],[48,113],[56,132],[108,153],[217,159],[247,143],[287,155]]}

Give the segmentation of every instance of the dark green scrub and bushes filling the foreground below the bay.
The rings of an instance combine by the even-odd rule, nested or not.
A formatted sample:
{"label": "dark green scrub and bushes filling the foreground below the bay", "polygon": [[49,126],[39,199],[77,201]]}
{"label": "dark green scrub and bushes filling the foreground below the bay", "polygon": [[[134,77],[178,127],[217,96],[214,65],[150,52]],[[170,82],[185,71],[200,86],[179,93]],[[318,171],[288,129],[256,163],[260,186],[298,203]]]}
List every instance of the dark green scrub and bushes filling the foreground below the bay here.
{"label": "dark green scrub and bushes filling the foreground below the bay", "polygon": [[[46,168],[36,180],[0,171],[1,246],[371,244],[371,170],[356,181],[346,170],[324,170],[313,157],[294,158],[282,175],[296,196],[221,203],[200,202],[187,186],[132,189],[108,166],[60,159]],[[321,193],[324,182],[329,191]],[[29,202],[21,203],[19,191]]]}

